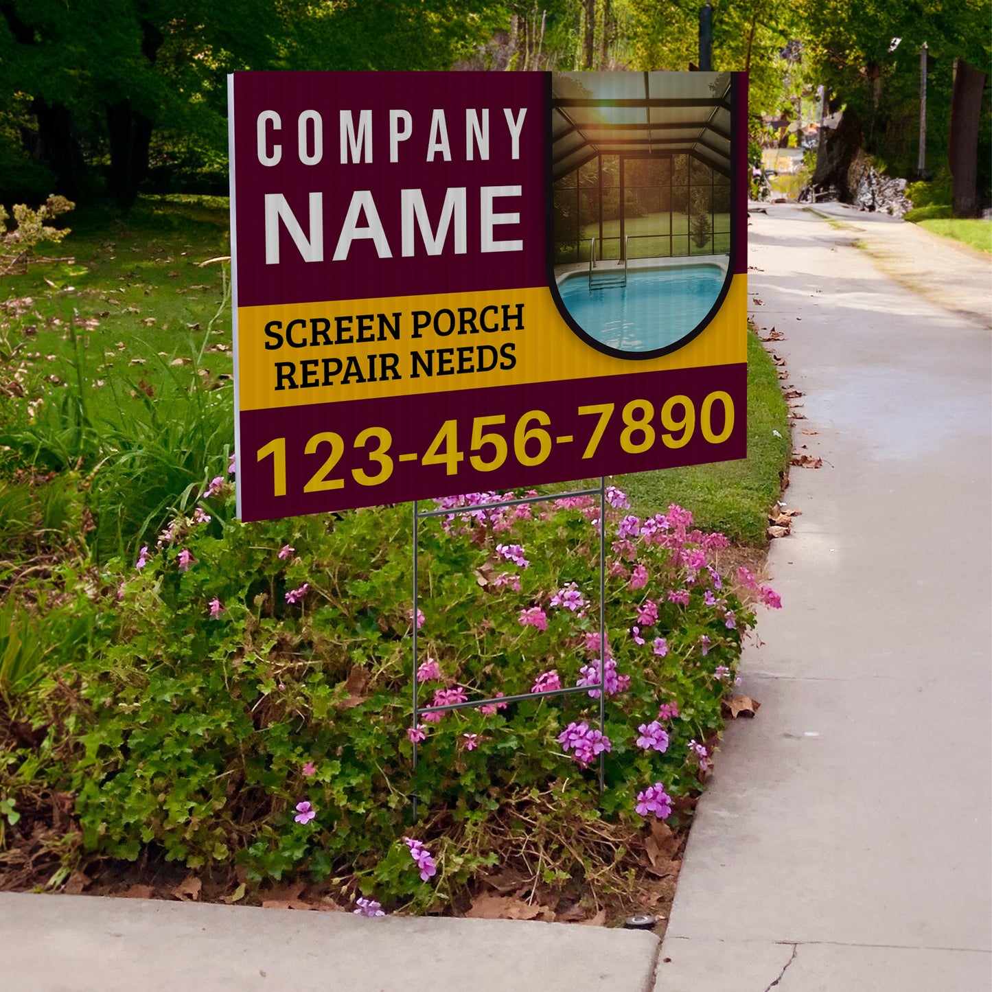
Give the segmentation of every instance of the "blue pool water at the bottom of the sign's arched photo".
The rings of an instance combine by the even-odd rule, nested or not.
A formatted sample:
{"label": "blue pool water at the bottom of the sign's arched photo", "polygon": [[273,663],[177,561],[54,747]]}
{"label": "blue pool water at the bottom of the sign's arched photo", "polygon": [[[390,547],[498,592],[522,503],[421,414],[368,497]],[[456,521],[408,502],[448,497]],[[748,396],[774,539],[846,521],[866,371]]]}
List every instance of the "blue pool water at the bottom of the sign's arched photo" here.
{"label": "blue pool water at the bottom of the sign's arched photo", "polygon": [[[603,280],[613,267],[595,270]],[[623,275],[620,266],[618,276]],[[723,272],[714,265],[629,272],[627,286],[590,290],[588,275],[558,284],[565,308],[597,341],[618,351],[654,351],[693,330],[716,303]]]}

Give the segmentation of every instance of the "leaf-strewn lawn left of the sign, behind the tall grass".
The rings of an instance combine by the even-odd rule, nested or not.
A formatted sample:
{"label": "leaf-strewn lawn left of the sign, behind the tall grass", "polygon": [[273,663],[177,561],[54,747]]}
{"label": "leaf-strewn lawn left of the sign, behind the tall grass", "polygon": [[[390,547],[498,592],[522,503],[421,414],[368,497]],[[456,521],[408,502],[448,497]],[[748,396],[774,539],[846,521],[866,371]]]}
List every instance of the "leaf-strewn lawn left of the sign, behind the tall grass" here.
{"label": "leaf-strewn lawn left of the sign, behind the tall grass", "polygon": [[94,421],[140,416],[142,396],[168,416],[193,377],[229,382],[217,378],[231,374],[229,308],[218,315],[224,274],[198,264],[229,254],[226,199],[142,197],[126,221],[73,211],[65,222],[72,233],[40,254],[74,261],[0,282],[0,300],[31,301],[36,374],[54,385],[76,374],[74,327]]}

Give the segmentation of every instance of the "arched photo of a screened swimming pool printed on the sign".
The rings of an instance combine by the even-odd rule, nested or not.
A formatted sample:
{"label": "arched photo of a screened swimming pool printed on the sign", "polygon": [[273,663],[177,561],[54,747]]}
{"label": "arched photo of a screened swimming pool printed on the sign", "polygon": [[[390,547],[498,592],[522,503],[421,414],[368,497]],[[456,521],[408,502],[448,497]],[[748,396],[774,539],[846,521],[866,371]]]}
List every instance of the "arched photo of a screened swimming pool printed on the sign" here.
{"label": "arched photo of a screened swimming pool printed on the sign", "polygon": [[556,72],[552,238],[558,306],[600,350],[691,339],[731,278],[731,77]]}

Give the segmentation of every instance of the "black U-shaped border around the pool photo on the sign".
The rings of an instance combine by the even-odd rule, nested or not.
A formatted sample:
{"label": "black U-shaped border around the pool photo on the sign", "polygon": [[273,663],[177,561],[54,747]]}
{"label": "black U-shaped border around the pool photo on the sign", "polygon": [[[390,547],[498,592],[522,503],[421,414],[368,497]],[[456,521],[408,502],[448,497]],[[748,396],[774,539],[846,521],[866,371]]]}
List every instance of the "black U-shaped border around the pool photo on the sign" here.
{"label": "black U-shaped border around the pool photo on the sign", "polygon": [[698,337],[709,326],[713,317],[723,306],[723,302],[730,292],[730,285],[736,273],[738,225],[741,222],[740,196],[742,181],[740,177],[734,174],[734,168],[738,161],[738,144],[740,142],[738,109],[740,107],[739,86],[741,84],[741,74],[739,72],[730,73],[730,251],[728,253],[729,262],[727,264],[723,286],[720,288],[716,302],[692,330],[687,334],[683,334],[678,341],[673,341],[672,344],[655,348],[652,351],[621,351],[618,348],[611,348],[609,345],[592,337],[571,315],[570,311],[565,307],[564,301],[561,299],[561,294],[558,292],[558,280],[555,277],[555,181],[553,175],[554,163],[552,161],[554,150],[554,141],[552,139],[553,78],[554,73],[547,72],[545,74],[545,266],[552,300],[555,301],[558,313],[572,332],[588,344],[589,347],[595,348],[601,354],[609,355],[612,358],[624,358],[629,361],[647,361],[651,358],[661,358],[663,355],[670,355],[673,351],[678,351],[680,348],[685,347],[686,344]]}

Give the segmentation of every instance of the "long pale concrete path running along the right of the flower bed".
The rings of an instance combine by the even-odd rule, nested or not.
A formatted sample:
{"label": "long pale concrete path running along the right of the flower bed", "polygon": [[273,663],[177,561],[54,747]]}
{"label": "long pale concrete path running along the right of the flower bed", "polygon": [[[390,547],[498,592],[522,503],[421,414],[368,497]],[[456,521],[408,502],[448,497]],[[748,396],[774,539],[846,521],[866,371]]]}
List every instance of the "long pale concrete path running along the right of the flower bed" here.
{"label": "long pale concrete path running along the right of the flower bed", "polygon": [[[699,806],[657,992],[992,988],[992,261],[850,221],[752,215],[754,313],[824,465],[792,472],[763,706]],[[931,299],[967,268],[956,310],[855,241]]]}

